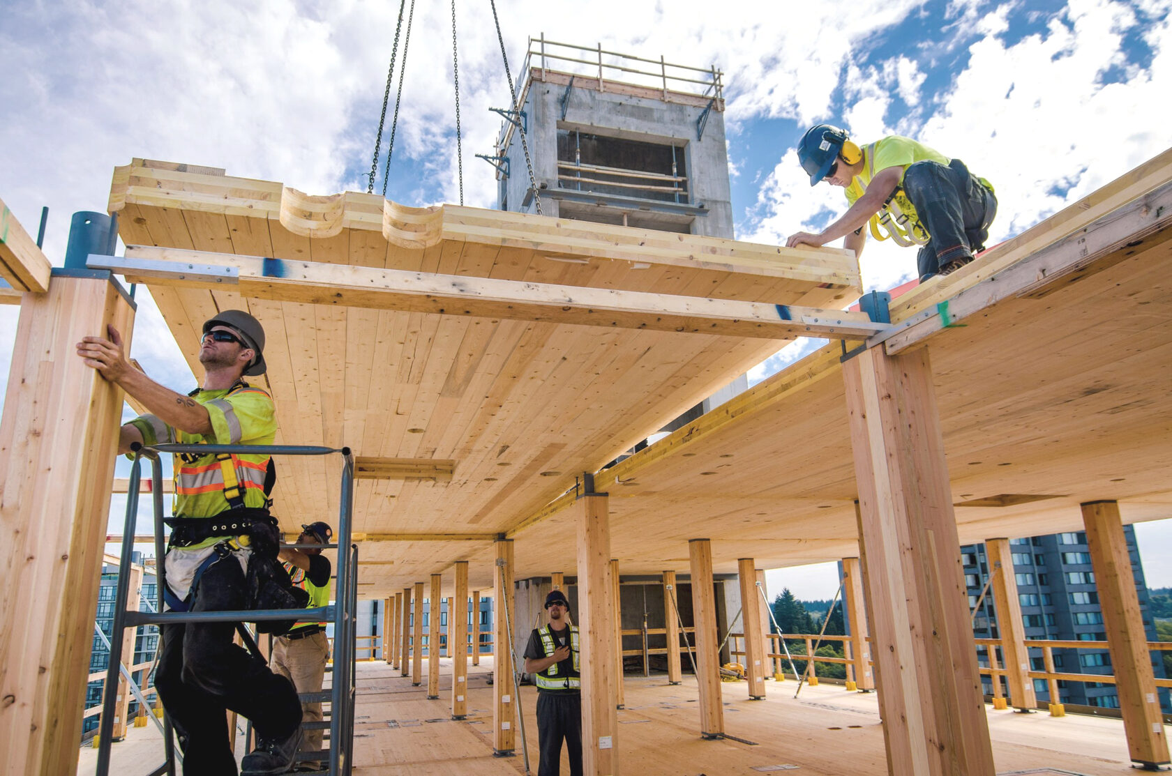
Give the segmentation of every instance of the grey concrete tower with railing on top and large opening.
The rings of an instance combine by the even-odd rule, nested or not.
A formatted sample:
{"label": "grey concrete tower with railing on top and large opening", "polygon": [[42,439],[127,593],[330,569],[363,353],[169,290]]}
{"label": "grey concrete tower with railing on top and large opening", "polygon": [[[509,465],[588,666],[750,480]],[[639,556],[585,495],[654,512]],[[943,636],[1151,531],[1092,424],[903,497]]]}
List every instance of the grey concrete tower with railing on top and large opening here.
{"label": "grey concrete tower with railing on top and large opening", "polygon": [[[732,237],[721,72],[531,39],[518,79],[545,216]],[[520,132],[502,127],[497,206],[536,212]]]}

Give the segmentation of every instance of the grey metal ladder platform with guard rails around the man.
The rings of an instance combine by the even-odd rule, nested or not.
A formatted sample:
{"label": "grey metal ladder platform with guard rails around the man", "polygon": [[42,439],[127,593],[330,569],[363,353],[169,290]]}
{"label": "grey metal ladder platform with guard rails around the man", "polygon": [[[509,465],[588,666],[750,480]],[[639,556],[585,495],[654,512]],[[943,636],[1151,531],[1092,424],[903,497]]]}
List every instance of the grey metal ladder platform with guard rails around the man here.
{"label": "grey metal ladder platform with guard rails around the man", "polygon": [[[127,489],[127,518],[122,533],[121,566],[129,569],[134,550],[135,523],[138,516],[138,496],[142,482],[142,461],[151,462],[151,499],[155,515],[155,553],[159,558],[157,566],[157,595],[155,612],[128,611],[130,576],[120,573],[114,606],[113,633],[141,625],[182,624],[182,622],[237,622],[237,631],[245,646],[259,659],[264,659],[255,640],[244,622],[289,619],[289,610],[247,610],[237,612],[165,612],[163,610],[163,590],[166,585],[166,570],[162,558],[165,554],[163,544],[163,472],[161,454],[219,454],[251,452],[259,455],[342,455],[341,498],[338,520],[338,544],[314,545],[322,549],[338,549],[338,590],[334,604],[314,608],[298,610],[299,620],[316,620],[333,624],[334,654],[333,680],[329,690],[322,693],[301,694],[302,701],[328,701],[329,712],[329,765],[331,776],[347,776],[353,764],[354,749],[354,699],[355,699],[355,610],[357,608],[357,545],[350,543],[352,518],[354,513],[354,456],[349,448],[327,448],[312,445],[263,445],[263,444],[157,444],[155,447],[134,445],[130,479]],[[297,545],[288,545],[297,546]],[[342,549],[347,549],[342,551]],[[161,647],[162,648],[162,647]],[[116,687],[118,671],[122,666],[122,639],[110,639],[110,662],[107,669],[105,686]],[[98,728],[97,776],[110,772],[110,744],[114,731],[115,703],[117,693],[107,692],[103,700],[102,722]],[[164,749],[165,760],[162,765],[150,771],[149,776],[176,772],[175,734],[164,708]],[[319,757],[322,753],[315,753]],[[300,753],[299,753],[300,757]],[[315,760],[306,753],[305,758]]]}

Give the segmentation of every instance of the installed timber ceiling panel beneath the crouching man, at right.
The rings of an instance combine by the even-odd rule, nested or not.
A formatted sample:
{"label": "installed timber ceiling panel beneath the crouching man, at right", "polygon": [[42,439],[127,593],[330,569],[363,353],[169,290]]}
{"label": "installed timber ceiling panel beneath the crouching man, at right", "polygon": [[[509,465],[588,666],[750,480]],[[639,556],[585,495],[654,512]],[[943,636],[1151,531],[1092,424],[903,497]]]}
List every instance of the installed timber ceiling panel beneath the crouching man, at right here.
{"label": "installed timber ceiling panel beneath the crouching man, at right", "polygon": [[[1160,173],[1142,168],[1146,189],[1137,191],[1136,176],[1125,176],[1089,196],[1090,207],[1075,207],[1090,213],[1085,218],[1059,213],[1041,233],[1007,244],[1016,258],[1002,270],[1071,232],[1088,239],[1068,241],[1070,260],[1093,258],[1082,250],[1102,225],[1117,224],[1120,209],[1143,212],[1149,196],[1166,186],[1172,159],[1160,164]],[[1096,210],[1102,202],[1115,210]],[[1076,275],[1001,295],[965,326],[920,342],[932,353],[962,542],[1079,530],[1078,504],[1092,498],[1118,499],[1125,522],[1172,515],[1172,234],[1166,226],[1139,229],[1142,236],[1124,236],[1120,247]],[[1022,252],[1022,245],[1031,247]],[[1000,263],[999,256],[988,260]],[[952,293],[1001,283],[1000,274],[989,278],[984,260],[965,267],[968,280]],[[933,293],[936,287],[932,281],[913,292],[917,306],[897,299],[893,311],[906,319],[936,308],[948,299]],[[841,356],[837,343],[818,350],[598,472],[597,488],[612,493],[612,542],[622,567],[683,570],[681,539],[701,532],[713,535],[721,573],[735,571],[738,557],[776,567],[857,554]],[[512,532],[518,558],[559,563],[557,537],[568,522],[558,506]]]}

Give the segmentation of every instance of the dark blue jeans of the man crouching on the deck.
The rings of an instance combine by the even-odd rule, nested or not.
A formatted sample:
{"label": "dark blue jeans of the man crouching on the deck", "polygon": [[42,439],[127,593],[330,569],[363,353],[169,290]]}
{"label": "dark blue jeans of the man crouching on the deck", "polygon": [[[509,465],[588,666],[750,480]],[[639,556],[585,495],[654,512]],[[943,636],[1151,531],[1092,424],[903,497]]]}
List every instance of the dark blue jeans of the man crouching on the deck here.
{"label": "dark blue jeans of the man crouching on the deck", "polygon": [[920,280],[939,273],[949,261],[972,259],[974,252],[984,247],[989,224],[997,215],[997,198],[963,162],[908,165],[904,191],[931,234],[918,257]]}

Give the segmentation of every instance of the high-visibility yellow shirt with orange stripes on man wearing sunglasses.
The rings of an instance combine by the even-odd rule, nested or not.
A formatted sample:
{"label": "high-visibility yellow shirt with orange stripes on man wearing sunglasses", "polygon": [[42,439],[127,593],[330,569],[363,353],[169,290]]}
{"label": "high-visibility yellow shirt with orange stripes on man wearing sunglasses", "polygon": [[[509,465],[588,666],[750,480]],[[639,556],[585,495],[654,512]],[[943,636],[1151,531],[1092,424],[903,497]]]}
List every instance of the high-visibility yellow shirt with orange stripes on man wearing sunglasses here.
{"label": "high-visibility yellow shirt with orange stripes on man wearing sunglasses", "polygon": [[[272,444],[277,437],[277,417],[272,397],[260,388],[239,382],[223,390],[200,390],[192,399],[207,409],[211,434],[188,434],[168,426],[155,415],[141,415],[130,423],[150,447],[159,443],[180,444]],[[244,490],[244,505],[261,508],[265,496],[267,455],[232,455],[232,469]],[[224,496],[224,472],[214,455],[183,454],[175,456],[176,517],[214,517],[230,508]],[[189,549],[207,547],[224,537],[209,537]]]}

